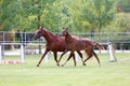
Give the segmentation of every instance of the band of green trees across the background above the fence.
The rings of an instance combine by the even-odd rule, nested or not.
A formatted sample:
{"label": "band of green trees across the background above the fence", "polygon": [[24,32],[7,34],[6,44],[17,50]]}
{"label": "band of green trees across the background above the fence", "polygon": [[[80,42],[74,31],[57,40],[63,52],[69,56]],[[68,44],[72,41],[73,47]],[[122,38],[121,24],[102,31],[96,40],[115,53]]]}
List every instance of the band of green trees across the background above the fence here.
{"label": "band of green trees across the background above the fence", "polygon": [[130,0],[0,0],[0,31],[130,31]]}

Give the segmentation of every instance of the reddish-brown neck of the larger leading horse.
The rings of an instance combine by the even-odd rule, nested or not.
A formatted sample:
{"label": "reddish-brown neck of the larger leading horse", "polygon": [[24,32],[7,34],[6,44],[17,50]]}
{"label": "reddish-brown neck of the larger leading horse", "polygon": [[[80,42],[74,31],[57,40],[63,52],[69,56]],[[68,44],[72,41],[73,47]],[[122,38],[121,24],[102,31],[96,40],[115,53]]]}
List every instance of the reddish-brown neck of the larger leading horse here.
{"label": "reddish-brown neck of the larger leading horse", "polygon": [[53,33],[44,30],[44,39],[47,40],[48,43],[52,43],[55,39],[56,39],[56,35],[54,35]]}

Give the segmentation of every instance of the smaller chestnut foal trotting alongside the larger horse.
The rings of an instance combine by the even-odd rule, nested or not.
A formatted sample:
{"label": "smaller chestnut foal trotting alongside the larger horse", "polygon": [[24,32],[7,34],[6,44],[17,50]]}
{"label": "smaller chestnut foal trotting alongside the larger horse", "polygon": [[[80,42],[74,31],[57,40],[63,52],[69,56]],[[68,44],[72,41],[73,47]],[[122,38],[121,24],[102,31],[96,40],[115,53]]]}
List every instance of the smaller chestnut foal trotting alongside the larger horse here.
{"label": "smaller chestnut foal trotting alongside the larger horse", "polygon": [[[65,37],[66,49],[61,55],[58,61],[62,59],[62,56],[68,51],[70,51],[70,56],[72,56],[72,55],[74,55],[75,51],[84,49],[86,53],[88,54],[88,58],[83,62],[86,62],[88,59],[90,59],[94,55],[94,57],[96,58],[96,60],[98,60],[98,62],[101,67],[100,59],[99,59],[98,55],[95,54],[95,52],[93,51],[93,48],[96,45],[99,47],[99,49],[104,49],[104,47],[102,45],[100,45],[96,42],[90,41],[90,40],[73,39],[72,35],[69,34],[67,28],[64,28],[63,31],[60,34]],[[62,66],[66,64],[66,62],[69,59],[70,59],[70,57],[68,57],[67,60]]]}

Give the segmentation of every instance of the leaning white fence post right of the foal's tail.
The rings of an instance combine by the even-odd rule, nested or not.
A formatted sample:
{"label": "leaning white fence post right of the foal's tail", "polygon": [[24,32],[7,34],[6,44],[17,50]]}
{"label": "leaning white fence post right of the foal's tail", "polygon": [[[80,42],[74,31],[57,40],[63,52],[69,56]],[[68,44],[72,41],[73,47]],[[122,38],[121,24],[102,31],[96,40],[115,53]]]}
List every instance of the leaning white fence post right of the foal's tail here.
{"label": "leaning white fence post right of the foal's tail", "polygon": [[108,53],[109,53],[109,57],[110,57],[109,61],[110,62],[117,61],[112,42],[108,42]]}

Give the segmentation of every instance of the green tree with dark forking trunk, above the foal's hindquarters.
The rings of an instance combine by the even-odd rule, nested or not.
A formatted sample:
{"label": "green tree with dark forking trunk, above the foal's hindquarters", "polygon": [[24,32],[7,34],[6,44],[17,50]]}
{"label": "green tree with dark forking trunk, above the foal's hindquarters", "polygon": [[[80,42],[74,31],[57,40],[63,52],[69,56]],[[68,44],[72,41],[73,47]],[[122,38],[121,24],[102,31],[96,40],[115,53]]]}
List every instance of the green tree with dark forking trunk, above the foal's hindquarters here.
{"label": "green tree with dark forking trunk, above the foal's hindquarters", "polygon": [[91,25],[91,28],[96,28],[95,31],[102,31],[102,28],[108,25],[114,19],[114,1],[93,0],[89,2],[88,5],[88,8],[84,8],[84,12],[87,12],[86,14],[88,15],[84,15],[83,18],[87,18],[87,20]]}

